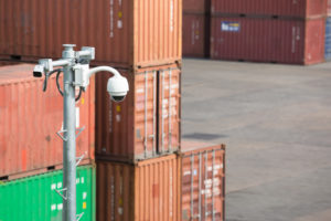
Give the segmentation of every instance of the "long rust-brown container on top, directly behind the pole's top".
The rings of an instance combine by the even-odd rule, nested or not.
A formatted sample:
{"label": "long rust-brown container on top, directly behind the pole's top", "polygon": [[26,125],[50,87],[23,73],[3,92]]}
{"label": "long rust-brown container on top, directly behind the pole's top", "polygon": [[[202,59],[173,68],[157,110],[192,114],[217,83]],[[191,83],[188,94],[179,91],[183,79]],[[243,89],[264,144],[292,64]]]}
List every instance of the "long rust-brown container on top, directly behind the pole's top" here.
{"label": "long rust-brown container on top, directly behind the pole's top", "polygon": [[75,43],[96,48],[95,64],[181,60],[181,0],[0,0],[0,55],[60,57],[63,43]]}

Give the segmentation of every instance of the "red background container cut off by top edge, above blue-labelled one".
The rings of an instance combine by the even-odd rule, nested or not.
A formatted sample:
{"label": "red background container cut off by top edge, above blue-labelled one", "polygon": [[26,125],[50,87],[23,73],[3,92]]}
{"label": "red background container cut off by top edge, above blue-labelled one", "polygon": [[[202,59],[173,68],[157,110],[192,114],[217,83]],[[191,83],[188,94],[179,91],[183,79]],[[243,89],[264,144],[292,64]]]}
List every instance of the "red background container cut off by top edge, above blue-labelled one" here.
{"label": "red background container cut off by top edge, above blue-labelled one", "polygon": [[212,0],[212,13],[310,18],[325,15],[328,0]]}

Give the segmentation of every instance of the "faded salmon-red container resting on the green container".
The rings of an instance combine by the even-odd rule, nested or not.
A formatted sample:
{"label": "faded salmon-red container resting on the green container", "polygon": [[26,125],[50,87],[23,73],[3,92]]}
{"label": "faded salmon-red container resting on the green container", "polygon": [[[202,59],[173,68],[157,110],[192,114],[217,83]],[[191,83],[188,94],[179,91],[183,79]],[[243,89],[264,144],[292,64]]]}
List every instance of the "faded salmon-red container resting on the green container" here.
{"label": "faded salmon-red container resting on the green container", "polygon": [[[55,76],[44,93],[43,78],[32,76],[34,65],[0,67],[0,176],[26,172],[62,164],[63,98]],[[94,159],[95,86],[76,103],[77,126],[85,130],[77,138],[77,156]]]}

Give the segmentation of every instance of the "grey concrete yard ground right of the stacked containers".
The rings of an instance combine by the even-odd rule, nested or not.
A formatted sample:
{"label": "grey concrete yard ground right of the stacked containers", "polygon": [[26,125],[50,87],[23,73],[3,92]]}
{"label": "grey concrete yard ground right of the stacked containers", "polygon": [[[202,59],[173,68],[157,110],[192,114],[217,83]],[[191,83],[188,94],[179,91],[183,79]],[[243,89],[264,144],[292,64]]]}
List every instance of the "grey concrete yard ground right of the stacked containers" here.
{"label": "grey concrete yard ground right of the stacked containers", "polygon": [[331,220],[331,63],[186,59],[182,119],[227,145],[227,221]]}

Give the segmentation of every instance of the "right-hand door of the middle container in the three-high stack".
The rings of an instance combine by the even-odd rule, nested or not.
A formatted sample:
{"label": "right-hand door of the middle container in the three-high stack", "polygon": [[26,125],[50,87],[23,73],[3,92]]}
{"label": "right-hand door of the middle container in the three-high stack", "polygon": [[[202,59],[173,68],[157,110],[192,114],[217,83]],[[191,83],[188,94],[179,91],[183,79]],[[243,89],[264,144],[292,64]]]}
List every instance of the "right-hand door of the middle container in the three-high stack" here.
{"label": "right-hand door of the middle container in the three-high stack", "polygon": [[173,152],[180,144],[180,70],[167,69],[158,75],[158,154]]}

